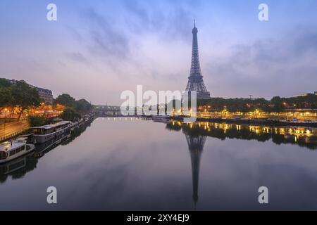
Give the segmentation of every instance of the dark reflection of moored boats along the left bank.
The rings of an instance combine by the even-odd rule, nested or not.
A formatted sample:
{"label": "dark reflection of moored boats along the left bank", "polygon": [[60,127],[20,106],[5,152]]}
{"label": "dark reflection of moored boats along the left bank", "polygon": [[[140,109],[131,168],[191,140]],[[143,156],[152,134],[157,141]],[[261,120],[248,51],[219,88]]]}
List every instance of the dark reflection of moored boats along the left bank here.
{"label": "dark reflection of moored boats along the left bank", "polygon": [[62,134],[61,136],[57,136],[55,139],[51,139],[50,141],[37,145],[35,151],[32,153],[28,153],[20,158],[1,164],[0,183],[6,182],[9,176],[11,176],[12,179],[23,178],[27,172],[31,172],[37,167],[39,159],[42,158],[46,153],[49,153],[49,151],[53,150],[57,146],[67,145],[68,143],[72,142],[78,136],[80,136],[80,134],[82,134],[91,123],[92,122],[82,124],[82,126],[75,128],[73,131]]}

